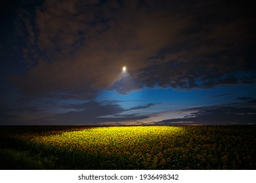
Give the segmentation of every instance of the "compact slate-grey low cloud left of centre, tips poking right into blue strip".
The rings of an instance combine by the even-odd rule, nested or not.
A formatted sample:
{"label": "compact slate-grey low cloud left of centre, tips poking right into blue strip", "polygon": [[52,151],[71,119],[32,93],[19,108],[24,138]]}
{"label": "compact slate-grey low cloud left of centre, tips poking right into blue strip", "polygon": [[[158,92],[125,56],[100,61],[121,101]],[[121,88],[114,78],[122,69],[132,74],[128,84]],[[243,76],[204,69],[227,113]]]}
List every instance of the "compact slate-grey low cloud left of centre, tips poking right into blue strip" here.
{"label": "compact slate-grey low cloud left of centre, tips poking right into blue strip", "polygon": [[64,105],[64,108],[75,109],[74,111],[66,112],[63,114],[57,114],[49,118],[42,118],[38,120],[40,123],[53,124],[84,124],[84,125],[100,125],[105,122],[125,122],[132,120],[142,120],[148,118],[148,116],[135,114],[121,114],[128,110],[139,110],[142,108],[151,107],[152,103],[145,106],[132,107],[129,109],[124,109],[117,104],[107,103],[102,104],[96,101],[89,101],[87,103],[81,104],[70,104]]}

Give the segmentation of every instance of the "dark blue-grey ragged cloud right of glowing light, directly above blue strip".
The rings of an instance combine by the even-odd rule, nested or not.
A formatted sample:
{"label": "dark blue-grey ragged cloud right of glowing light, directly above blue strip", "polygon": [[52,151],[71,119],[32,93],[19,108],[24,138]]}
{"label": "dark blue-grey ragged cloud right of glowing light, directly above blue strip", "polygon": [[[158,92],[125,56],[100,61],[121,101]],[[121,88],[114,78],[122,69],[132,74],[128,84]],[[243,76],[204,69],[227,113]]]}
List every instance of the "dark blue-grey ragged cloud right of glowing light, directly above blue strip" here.
{"label": "dark blue-grey ragged cloud right of glowing light, directly above blue strip", "polygon": [[[130,80],[136,81],[136,86],[125,85],[127,82],[122,80],[122,82],[116,83],[119,87],[115,86],[114,88],[125,93],[123,90],[131,91],[143,86],[154,87],[156,84],[165,88],[192,89],[255,83],[255,72],[250,73],[249,69],[241,71],[241,67],[237,63],[234,63],[236,68],[231,69],[228,66],[230,61],[223,61],[226,63],[225,65],[221,63],[221,59],[219,60],[216,61],[215,58],[212,58],[211,60],[201,59],[201,61],[196,61],[196,59],[190,61],[166,61],[165,63],[146,67],[141,70],[139,75],[130,78]],[[217,62],[219,62],[219,65],[217,65]],[[251,65],[251,69],[255,69],[254,64]]]}

